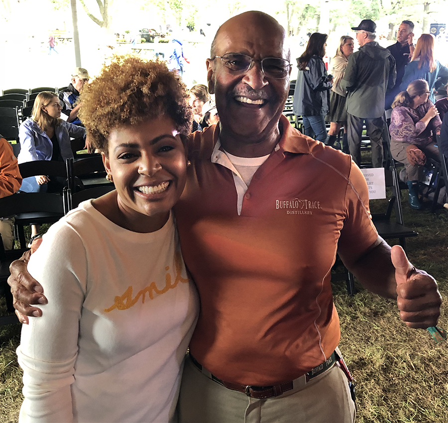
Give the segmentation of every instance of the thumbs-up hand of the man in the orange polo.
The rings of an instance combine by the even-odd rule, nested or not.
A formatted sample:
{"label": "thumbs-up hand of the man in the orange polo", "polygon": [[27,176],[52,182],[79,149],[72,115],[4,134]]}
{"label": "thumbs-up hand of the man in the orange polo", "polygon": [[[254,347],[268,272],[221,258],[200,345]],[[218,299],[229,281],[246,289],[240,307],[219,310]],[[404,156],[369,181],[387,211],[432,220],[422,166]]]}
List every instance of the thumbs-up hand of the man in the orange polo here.
{"label": "thumbs-up hand of the man in the orange polo", "polygon": [[442,304],[436,280],[416,269],[399,245],[392,247],[391,259],[395,267],[400,318],[409,327],[436,326]]}

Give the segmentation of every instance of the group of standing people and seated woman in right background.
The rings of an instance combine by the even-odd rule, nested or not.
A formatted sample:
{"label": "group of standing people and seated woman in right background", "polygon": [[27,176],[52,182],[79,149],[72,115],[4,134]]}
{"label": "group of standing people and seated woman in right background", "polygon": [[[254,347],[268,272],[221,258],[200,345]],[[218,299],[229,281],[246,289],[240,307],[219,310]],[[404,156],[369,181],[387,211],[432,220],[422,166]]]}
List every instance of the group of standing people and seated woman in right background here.
{"label": "group of standing people and seated woman in right background", "polygon": [[[409,20],[401,22],[397,42],[387,48],[375,41],[372,20],[363,19],[351,29],[359,50],[353,52],[353,38],[342,36],[330,74],[323,62],[327,34],[311,34],[297,59],[294,113],[302,119],[306,135],[351,154],[358,166],[365,126],[373,167],[383,165],[383,130],[390,118],[392,156],[405,165],[410,206],[422,209],[423,165],[427,156],[439,161],[435,136],[448,109],[447,99],[434,106],[435,90],[447,84],[448,68],[435,57],[433,35],[422,34],[414,46],[414,23]],[[337,141],[341,127],[342,146]]]}

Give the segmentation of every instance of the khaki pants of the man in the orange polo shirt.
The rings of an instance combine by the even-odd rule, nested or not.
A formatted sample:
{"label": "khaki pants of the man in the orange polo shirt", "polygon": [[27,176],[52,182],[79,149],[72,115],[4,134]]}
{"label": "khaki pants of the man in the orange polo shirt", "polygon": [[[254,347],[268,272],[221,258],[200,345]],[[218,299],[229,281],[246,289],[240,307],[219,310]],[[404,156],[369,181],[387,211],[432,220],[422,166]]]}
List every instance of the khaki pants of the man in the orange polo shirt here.
{"label": "khaki pants of the man in the orange polo shirt", "polygon": [[[262,400],[225,388],[187,357],[179,396],[179,423],[352,423],[355,407],[338,364],[294,389]],[[210,374],[210,373],[209,373]]]}

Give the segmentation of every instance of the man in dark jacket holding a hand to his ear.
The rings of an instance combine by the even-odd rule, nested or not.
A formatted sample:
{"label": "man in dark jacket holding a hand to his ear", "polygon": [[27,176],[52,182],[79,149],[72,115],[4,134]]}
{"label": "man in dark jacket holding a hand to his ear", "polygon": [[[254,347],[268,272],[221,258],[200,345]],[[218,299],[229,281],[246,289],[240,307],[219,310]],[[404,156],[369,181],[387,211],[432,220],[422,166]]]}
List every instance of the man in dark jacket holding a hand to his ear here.
{"label": "man in dark jacket holding a hand to his ear", "polygon": [[392,90],[386,94],[386,110],[391,107],[395,96],[400,92],[400,84],[403,80],[404,70],[406,65],[411,61],[411,57],[414,53],[415,47],[413,43],[413,30],[414,23],[410,20],[404,20],[398,27],[397,42],[387,47],[390,54],[394,56],[395,59],[397,79]]}

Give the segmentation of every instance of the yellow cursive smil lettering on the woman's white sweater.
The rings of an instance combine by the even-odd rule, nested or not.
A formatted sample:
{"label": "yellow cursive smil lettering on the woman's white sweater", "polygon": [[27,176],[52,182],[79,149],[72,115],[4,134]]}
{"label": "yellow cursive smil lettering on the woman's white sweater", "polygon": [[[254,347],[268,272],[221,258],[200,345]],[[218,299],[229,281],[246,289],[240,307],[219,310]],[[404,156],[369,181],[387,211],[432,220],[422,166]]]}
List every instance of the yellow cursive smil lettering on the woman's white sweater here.
{"label": "yellow cursive smil lettering on the woman's white sweater", "polygon": [[[112,310],[127,310],[131,307],[134,307],[137,301],[141,297],[141,303],[144,304],[146,294],[148,294],[148,297],[153,300],[154,294],[162,295],[168,292],[170,289],[174,289],[177,287],[179,282],[182,283],[188,283],[188,278],[183,278],[182,273],[182,257],[180,252],[176,252],[174,255],[174,265],[176,267],[176,276],[174,278],[174,281],[172,280],[171,274],[169,272],[165,275],[165,286],[162,289],[157,288],[157,284],[155,282],[151,282],[147,287],[143,288],[142,290],[138,291],[137,295],[132,298],[132,291],[133,288],[130,285],[126,291],[124,291],[124,294],[120,297],[115,297],[115,302],[109,309],[105,309],[105,313],[112,312]],[[165,270],[170,270],[170,267],[165,267]]]}

